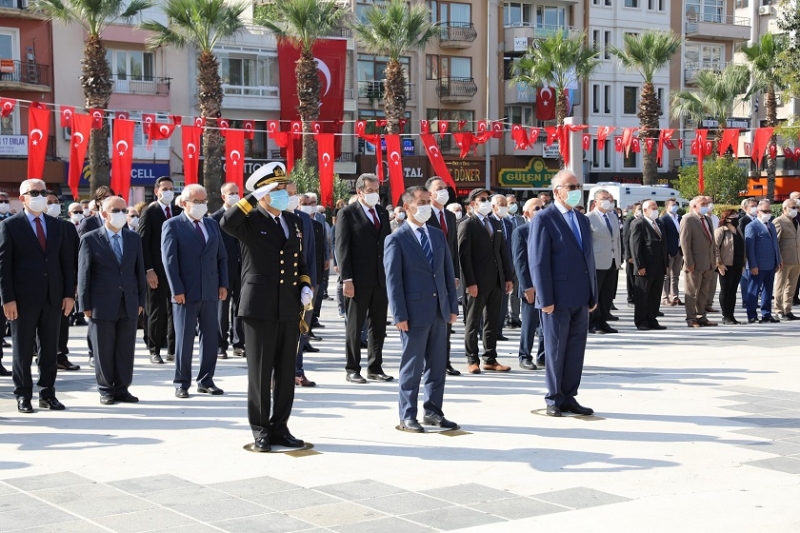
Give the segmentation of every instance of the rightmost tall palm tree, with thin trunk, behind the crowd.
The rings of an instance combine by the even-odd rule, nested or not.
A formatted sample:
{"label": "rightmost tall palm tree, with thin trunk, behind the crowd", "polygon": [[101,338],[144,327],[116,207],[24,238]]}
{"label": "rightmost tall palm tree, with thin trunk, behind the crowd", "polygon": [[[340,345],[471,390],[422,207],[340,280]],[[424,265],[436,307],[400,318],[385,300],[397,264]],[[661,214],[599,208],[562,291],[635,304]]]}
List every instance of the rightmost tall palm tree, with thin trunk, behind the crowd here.
{"label": "rightmost tall palm tree, with thin trunk, behind the crowd", "polygon": [[[780,75],[780,61],[778,55],[785,48],[786,39],[780,35],[766,33],[758,42],[752,45],[742,45],[739,51],[744,54],[750,64],[752,74],[750,90],[745,98],[752,97],[755,93],[764,93],[764,107],[767,111],[766,127],[774,128],[778,125],[778,103],[775,99],[776,91],[788,88],[786,80]],[[770,143],[778,142],[777,135],[770,138]],[[767,198],[775,197],[775,167],[777,161],[767,156]]]}

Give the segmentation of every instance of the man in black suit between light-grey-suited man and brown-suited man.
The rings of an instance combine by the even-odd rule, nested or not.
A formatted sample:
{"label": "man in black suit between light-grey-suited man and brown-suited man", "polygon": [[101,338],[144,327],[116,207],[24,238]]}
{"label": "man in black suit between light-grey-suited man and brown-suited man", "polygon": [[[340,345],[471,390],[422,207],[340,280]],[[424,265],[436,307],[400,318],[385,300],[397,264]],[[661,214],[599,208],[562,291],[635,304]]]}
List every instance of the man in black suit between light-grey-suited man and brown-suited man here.
{"label": "man in black suit between light-grey-suited man and brown-suited man", "polygon": [[[634,281],[633,323],[639,330],[667,329],[658,323],[659,295],[664,289],[667,271],[666,230],[658,219],[658,205],[653,200],[642,203],[644,216],[631,224],[630,245]],[[672,224],[671,221],[667,222]]]}

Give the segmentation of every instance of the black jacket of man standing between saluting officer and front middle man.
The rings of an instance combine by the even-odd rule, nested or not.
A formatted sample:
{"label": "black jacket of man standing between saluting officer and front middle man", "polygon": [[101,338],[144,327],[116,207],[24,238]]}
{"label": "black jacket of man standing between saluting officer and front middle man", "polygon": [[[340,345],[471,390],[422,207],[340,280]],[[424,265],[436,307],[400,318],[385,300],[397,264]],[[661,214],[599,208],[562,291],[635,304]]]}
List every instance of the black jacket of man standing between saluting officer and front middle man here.
{"label": "black jacket of man standing between saluting officer and front middle man", "polygon": [[386,286],[383,248],[391,232],[386,209],[376,205],[381,230],[375,229],[360,202],[339,210],[336,217],[336,260],[342,280],[353,280],[358,287]]}

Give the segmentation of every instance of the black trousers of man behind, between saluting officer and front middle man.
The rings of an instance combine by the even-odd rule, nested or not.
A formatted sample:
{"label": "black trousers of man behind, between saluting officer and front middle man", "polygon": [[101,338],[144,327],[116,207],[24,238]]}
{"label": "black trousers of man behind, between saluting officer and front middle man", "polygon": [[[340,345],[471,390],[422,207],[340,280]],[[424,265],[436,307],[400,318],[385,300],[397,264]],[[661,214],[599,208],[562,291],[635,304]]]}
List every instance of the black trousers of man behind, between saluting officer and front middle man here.
{"label": "black trousers of man behind, between saluting officer and front middle man", "polygon": [[355,288],[355,297],[347,298],[347,320],[345,321],[346,366],[348,372],[361,372],[361,328],[364,321],[367,326],[367,353],[369,374],[383,373],[383,341],[386,337],[386,315],[389,309],[389,299],[386,287],[380,285],[358,285]]}

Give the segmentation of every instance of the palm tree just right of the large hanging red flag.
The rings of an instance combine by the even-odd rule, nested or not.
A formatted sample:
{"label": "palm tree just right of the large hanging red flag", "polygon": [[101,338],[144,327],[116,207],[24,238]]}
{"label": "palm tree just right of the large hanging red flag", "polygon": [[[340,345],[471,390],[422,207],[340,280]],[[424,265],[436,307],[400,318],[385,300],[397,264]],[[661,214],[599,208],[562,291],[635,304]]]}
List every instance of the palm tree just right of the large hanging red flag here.
{"label": "palm tree just right of the large hanging red flag", "polygon": [[406,113],[406,73],[400,58],[412,48],[425,48],[439,28],[429,20],[425,4],[409,5],[404,0],[373,4],[352,26],[356,38],[372,54],[387,56],[383,105],[387,133],[400,133],[400,119]]}

